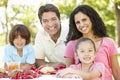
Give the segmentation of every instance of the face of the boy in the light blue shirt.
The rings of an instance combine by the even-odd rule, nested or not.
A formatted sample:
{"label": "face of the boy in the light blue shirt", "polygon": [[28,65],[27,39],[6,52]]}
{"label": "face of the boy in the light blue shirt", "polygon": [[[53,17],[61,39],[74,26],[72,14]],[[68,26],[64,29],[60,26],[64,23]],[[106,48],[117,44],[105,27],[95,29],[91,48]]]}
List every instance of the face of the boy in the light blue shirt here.
{"label": "face of the boy in the light blue shirt", "polygon": [[22,49],[26,44],[26,39],[18,35],[18,37],[14,39],[13,43],[17,49]]}

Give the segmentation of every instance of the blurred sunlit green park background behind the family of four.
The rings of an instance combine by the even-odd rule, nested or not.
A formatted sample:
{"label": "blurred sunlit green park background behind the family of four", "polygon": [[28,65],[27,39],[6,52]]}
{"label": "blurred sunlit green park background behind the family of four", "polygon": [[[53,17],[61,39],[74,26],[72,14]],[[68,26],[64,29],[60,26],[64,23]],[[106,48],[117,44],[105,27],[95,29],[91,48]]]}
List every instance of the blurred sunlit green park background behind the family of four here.
{"label": "blurred sunlit green park background behind the family of four", "polygon": [[[0,67],[3,67],[4,46],[9,43],[8,35],[13,25],[27,25],[32,34],[31,44],[34,45],[36,33],[42,29],[37,15],[38,8],[46,3],[58,7],[64,26],[69,25],[70,13],[76,6],[90,5],[105,22],[108,34],[115,40],[120,52],[120,0],[0,0]],[[120,62],[119,55],[118,60]]]}

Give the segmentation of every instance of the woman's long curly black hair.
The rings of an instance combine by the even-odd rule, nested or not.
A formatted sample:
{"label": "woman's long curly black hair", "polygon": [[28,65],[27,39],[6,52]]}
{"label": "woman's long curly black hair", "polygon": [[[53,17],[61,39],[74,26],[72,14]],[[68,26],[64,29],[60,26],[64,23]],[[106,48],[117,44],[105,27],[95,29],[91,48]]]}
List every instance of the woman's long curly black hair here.
{"label": "woman's long curly black hair", "polygon": [[76,7],[73,12],[70,15],[69,19],[69,33],[67,36],[67,42],[70,40],[75,40],[80,37],[82,37],[82,33],[77,30],[76,24],[75,24],[75,15],[79,12],[82,12],[83,14],[87,15],[91,22],[92,22],[92,30],[93,34],[98,37],[106,37],[107,35],[107,30],[104,25],[104,22],[102,21],[101,17],[99,14],[90,6],[88,5],[79,5]]}

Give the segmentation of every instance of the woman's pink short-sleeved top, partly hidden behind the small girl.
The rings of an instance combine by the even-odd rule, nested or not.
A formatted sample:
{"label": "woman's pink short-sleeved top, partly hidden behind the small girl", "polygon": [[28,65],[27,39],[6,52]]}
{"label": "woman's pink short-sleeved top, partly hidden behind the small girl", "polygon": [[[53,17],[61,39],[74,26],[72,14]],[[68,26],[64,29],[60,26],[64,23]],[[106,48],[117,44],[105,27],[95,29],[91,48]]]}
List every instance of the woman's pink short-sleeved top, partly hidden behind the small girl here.
{"label": "woman's pink short-sleeved top, partly hidden behind the small girl", "polygon": [[[75,44],[77,40],[71,40],[67,44],[67,48],[64,54],[65,58],[72,58],[75,64],[78,63],[75,52]],[[110,57],[117,54],[117,46],[113,39],[109,37],[104,37],[99,49],[96,52],[95,62],[102,62],[105,65],[105,79],[112,80],[112,71]]]}

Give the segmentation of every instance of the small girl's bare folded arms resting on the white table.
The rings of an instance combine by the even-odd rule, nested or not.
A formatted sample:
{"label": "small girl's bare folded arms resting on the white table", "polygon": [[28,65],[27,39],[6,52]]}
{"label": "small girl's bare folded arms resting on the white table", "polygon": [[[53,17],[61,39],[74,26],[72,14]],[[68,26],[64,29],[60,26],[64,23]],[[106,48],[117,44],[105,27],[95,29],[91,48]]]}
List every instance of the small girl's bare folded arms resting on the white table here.
{"label": "small girl's bare folded arms resting on the white table", "polygon": [[69,78],[72,77],[73,75],[78,75],[79,77],[82,77],[82,79],[85,80],[90,80],[103,76],[99,70],[84,72],[73,68],[65,68],[63,70],[59,70],[56,74],[57,77],[69,77]]}

